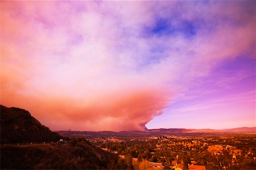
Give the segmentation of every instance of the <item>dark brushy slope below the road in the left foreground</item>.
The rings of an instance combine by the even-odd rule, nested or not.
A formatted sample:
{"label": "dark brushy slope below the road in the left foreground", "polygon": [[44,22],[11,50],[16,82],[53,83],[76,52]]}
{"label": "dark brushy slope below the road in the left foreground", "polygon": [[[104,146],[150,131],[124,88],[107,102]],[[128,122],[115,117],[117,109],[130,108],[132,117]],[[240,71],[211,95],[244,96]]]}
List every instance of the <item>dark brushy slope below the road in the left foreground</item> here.
{"label": "dark brushy slope below the road in the left foreground", "polygon": [[84,140],[1,146],[1,169],[108,169],[117,161],[118,155]]}

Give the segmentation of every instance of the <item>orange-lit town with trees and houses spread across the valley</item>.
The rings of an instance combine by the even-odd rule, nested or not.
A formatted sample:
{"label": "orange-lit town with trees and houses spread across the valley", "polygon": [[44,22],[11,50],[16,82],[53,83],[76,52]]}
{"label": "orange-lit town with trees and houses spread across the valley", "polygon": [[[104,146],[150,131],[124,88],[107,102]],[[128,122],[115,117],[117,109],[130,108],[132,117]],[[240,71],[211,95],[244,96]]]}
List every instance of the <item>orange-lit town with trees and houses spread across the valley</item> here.
{"label": "orange-lit town with trees and houses spread across the valley", "polygon": [[[254,169],[255,135],[150,136],[87,139],[102,150],[119,155],[110,169]],[[122,161],[126,167],[122,167]],[[127,167],[129,166],[130,167]]]}

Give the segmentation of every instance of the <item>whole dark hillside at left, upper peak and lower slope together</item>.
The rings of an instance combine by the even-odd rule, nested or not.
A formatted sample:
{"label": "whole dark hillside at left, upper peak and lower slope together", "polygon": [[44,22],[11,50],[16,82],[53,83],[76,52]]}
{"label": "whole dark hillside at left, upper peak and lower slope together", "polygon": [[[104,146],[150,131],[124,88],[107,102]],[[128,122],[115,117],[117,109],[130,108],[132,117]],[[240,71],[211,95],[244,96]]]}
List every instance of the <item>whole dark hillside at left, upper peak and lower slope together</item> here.
{"label": "whole dark hillside at left, upper peak and lower slope together", "polygon": [[[127,168],[118,155],[84,138],[64,138],[41,125],[27,110],[1,105],[0,111],[1,169]],[[61,138],[67,141],[57,142]]]}

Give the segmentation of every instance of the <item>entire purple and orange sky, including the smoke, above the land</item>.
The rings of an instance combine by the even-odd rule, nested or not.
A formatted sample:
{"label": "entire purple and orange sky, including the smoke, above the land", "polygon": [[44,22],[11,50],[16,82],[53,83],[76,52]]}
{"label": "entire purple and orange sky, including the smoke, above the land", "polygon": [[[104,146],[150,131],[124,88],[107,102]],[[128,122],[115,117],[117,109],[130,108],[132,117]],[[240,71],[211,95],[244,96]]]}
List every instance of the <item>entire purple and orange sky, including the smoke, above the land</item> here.
{"label": "entire purple and orange sky, including the smoke, above the land", "polygon": [[51,130],[255,126],[255,1],[0,3],[0,103]]}

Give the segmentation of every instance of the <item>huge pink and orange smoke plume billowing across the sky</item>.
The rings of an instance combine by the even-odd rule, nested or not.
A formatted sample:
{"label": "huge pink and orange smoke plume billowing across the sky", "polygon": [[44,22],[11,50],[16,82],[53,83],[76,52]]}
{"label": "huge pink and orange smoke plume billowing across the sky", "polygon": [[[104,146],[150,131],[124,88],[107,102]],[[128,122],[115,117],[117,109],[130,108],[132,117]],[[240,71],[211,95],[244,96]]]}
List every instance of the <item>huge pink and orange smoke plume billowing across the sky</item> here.
{"label": "huge pink and orange smoke plume billowing across the sky", "polygon": [[[225,12],[221,3],[203,12],[176,2],[1,6],[1,104],[27,109],[53,130],[142,130],[191,80],[255,44],[253,16],[242,17],[239,5]],[[159,17],[179,11],[189,11],[179,20],[210,23],[219,14],[239,26],[220,20],[189,39],[148,33]],[[164,50],[151,52],[155,47]]]}

